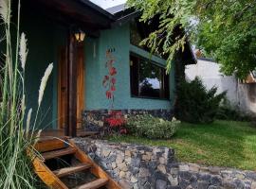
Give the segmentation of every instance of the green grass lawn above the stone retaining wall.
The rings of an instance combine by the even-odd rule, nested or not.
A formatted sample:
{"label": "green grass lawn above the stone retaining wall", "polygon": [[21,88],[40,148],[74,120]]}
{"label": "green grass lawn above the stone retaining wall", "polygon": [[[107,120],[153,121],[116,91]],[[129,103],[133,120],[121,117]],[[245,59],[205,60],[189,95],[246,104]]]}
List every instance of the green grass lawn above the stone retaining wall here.
{"label": "green grass lawn above the stone retaining wall", "polygon": [[180,162],[256,171],[256,128],[247,122],[215,121],[208,125],[182,123],[172,140],[134,136],[112,137],[109,140],[173,147]]}

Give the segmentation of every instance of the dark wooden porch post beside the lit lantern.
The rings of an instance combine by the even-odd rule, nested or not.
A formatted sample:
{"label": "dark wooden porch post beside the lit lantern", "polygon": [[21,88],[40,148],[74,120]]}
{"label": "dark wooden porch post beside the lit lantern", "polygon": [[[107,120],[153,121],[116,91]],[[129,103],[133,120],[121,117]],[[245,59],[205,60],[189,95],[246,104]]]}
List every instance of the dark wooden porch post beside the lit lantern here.
{"label": "dark wooden porch post beside the lit lantern", "polygon": [[77,136],[77,63],[76,44],[72,31],[69,31],[68,40],[68,97],[67,97],[67,136]]}

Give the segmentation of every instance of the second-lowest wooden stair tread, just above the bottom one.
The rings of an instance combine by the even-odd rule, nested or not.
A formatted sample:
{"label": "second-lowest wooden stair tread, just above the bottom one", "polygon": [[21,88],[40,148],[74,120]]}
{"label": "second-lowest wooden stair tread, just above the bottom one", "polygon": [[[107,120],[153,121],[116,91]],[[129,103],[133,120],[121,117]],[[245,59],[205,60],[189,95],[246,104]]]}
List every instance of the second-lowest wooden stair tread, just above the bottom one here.
{"label": "second-lowest wooden stair tread, just above the bottom one", "polygon": [[83,171],[85,169],[88,169],[91,167],[91,164],[88,163],[80,163],[78,165],[70,166],[70,167],[64,167],[55,171],[52,171],[58,178],[64,177],[66,175],[69,175],[71,173],[77,173],[80,171]]}

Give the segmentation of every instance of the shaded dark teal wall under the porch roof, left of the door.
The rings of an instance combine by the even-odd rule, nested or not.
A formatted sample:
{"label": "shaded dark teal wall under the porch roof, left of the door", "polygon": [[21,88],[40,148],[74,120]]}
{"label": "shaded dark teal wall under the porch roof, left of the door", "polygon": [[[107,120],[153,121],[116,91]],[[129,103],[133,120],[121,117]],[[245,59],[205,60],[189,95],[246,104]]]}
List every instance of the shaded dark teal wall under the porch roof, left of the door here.
{"label": "shaded dark teal wall under the porch roof, left of the door", "polygon": [[24,15],[22,31],[27,34],[28,56],[26,65],[27,111],[37,110],[38,90],[46,67],[53,62],[53,72],[39,112],[37,128],[51,129],[57,126],[57,76],[58,54],[65,43],[65,29],[40,16]]}

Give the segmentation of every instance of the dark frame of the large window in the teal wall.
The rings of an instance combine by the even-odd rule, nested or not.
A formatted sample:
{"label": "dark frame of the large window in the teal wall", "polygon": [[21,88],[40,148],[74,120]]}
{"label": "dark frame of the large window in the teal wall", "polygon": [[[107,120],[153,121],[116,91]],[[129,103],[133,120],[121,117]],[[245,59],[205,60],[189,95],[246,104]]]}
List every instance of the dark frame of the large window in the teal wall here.
{"label": "dark frame of the large window in the teal wall", "polygon": [[[137,60],[137,63],[131,65],[131,61]],[[155,97],[152,95],[141,95],[139,94],[139,64],[142,61],[147,61],[151,66],[157,67],[160,71],[160,89],[159,96]],[[134,52],[130,52],[129,56],[129,68],[130,68],[130,94],[131,97],[147,98],[147,99],[159,99],[159,100],[170,100],[170,75],[166,75],[166,68],[150,59],[137,55]],[[133,66],[133,67],[132,67]]]}

